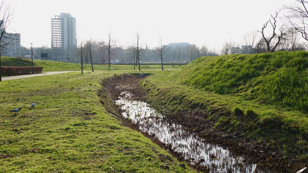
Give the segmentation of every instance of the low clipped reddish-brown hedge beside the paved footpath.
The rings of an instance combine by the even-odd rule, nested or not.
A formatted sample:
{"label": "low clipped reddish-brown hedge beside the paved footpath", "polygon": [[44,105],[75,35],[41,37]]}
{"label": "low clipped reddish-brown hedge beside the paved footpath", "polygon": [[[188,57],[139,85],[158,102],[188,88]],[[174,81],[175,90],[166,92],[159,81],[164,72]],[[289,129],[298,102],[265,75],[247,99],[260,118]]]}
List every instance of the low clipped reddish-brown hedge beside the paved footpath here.
{"label": "low clipped reddish-brown hedge beside the paved footpath", "polygon": [[42,73],[43,67],[1,66],[1,74],[6,76]]}

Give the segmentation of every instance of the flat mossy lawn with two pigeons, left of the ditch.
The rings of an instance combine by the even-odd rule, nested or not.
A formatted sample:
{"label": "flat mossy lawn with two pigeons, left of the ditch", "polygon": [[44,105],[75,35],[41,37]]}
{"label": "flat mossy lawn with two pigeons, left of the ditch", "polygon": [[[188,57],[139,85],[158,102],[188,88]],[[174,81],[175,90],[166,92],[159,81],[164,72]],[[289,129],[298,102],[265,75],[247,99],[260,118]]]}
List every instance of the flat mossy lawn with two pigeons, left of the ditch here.
{"label": "flat mossy lawn with two pigeons, left of the ditch", "polygon": [[107,113],[99,82],[120,73],[0,82],[0,172],[195,172]]}

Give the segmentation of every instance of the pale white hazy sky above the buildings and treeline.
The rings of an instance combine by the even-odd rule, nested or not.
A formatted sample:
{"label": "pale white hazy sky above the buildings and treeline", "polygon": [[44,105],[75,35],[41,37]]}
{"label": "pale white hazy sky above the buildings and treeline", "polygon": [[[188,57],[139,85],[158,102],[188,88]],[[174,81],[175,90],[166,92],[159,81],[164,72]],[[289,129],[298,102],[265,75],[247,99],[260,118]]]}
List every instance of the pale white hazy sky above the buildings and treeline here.
{"label": "pale white hazy sky above the buildings and treeline", "polygon": [[[241,42],[251,30],[263,24],[283,4],[294,0],[13,0],[15,15],[9,32],[21,34],[21,45],[51,46],[51,18],[70,13],[77,20],[79,38],[106,39],[109,29],[125,46],[140,31],[141,41],[158,45],[189,42],[221,48],[225,40]],[[14,31],[12,31],[14,32]]]}

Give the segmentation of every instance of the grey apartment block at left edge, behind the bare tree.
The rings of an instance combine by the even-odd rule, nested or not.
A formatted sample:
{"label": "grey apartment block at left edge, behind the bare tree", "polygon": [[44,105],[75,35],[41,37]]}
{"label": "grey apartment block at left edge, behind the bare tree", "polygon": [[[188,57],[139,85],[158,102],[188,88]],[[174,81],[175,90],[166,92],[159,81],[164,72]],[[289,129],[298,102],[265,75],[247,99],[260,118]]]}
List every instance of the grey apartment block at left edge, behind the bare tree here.
{"label": "grey apartment block at left edge, behind the bare tree", "polygon": [[[1,32],[3,29],[3,23],[0,26]],[[20,34],[19,33],[7,33],[4,31],[2,40],[0,42],[1,56],[20,58]]]}

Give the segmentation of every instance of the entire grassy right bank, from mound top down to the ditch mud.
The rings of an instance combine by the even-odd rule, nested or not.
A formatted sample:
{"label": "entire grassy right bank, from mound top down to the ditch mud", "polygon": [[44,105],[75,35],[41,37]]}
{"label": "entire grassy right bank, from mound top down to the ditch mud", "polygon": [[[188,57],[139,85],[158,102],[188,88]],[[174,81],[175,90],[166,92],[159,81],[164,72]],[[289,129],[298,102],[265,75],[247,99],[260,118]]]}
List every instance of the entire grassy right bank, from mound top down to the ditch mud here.
{"label": "entire grassy right bank, from mound top down to the ditch mud", "polygon": [[141,84],[167,110],[208,110],[214,131],[237,131],[301,160],[308,157],[307,67],[305,51],[201,57]]}

